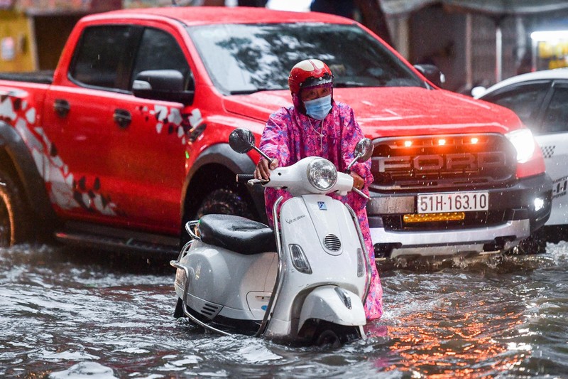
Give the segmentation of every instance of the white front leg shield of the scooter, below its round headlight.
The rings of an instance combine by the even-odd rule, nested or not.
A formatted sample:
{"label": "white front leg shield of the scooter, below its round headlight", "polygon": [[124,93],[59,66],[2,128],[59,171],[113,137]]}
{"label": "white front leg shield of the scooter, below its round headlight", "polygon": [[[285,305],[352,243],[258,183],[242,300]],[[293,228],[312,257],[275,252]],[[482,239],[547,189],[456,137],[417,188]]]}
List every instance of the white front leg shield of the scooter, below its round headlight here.
{"label": "white front leg shield of the scooter, below its round headlight", "polygon": [[[341,287],[359,302],[366,289],[366,274],[359,270],[358,255],[364,247],[345,205],[329,196],[304,195],[291,198],[280,208],[283,281],[278,291],[268,337],[295,338],[300,330],[300,313],[310,292],[320,286]],[[290,246],[300,246],[312,269],[311,274],[293,265]],[[334,295],[338,300],[339,296]],[[344,304],[341,304],[345,308]],[[317,318],[305,311],[305,319]],[[304,321],[305,321],[304,319]],[[336,322],[338,320],[329,320]],[[365,319],[360,325],[365,324]]]}

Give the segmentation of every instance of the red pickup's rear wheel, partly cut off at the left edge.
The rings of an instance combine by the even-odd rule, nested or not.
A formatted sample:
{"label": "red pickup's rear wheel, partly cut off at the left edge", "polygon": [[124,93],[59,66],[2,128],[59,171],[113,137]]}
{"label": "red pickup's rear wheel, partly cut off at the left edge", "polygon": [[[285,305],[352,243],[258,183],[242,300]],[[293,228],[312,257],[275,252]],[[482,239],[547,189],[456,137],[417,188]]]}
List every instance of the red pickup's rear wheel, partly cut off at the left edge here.
{"label": "red pickup's rear wheel, partly cut off at the left edge", "polygon": [[28,208],[21,189],[8,174],[0,171],[0,247],[29,242]]}

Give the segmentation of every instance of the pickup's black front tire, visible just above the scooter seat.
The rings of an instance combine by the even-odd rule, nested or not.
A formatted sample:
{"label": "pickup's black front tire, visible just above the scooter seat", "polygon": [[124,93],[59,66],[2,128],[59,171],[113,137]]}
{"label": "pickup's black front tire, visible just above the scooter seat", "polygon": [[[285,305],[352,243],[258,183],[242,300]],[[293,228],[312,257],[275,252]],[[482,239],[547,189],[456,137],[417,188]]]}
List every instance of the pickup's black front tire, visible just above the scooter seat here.
{"label": "pickup's black front tire, visible just above the scooter seat", "polygon": [[197,208],[197,219],[212,213],[253,218],[249,203],[231,188],[219,188],[207,194]]}

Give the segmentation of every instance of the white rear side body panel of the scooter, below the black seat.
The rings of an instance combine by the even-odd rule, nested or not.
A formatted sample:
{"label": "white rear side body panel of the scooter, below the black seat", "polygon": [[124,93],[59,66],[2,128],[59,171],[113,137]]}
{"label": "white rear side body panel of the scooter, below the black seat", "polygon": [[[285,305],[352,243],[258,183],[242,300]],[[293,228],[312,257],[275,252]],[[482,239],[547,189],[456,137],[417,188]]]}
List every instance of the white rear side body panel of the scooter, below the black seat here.
{"label": "white rear side body panel of the scooter, below the black seat", "polygon": [[243,255],[196,240],[180,265],[190,277],[178,269],[175,292],[191,309],[209,319],[259,320],[273,290],[278,258],[275,252]]}

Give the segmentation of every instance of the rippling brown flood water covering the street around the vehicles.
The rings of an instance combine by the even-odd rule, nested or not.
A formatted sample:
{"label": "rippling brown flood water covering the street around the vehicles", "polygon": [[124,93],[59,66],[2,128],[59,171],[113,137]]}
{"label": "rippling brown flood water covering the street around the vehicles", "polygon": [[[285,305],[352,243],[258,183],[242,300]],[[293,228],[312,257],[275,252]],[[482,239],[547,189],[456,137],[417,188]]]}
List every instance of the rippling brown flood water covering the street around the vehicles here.
{"label": "rippling brown flood water covering the street around the vehicles", "polygon": [[337,350],[175,321],[169,258],[0,250],[0,377],[567,377],[567,242],[545,255],[383,272],[383,318]]}

